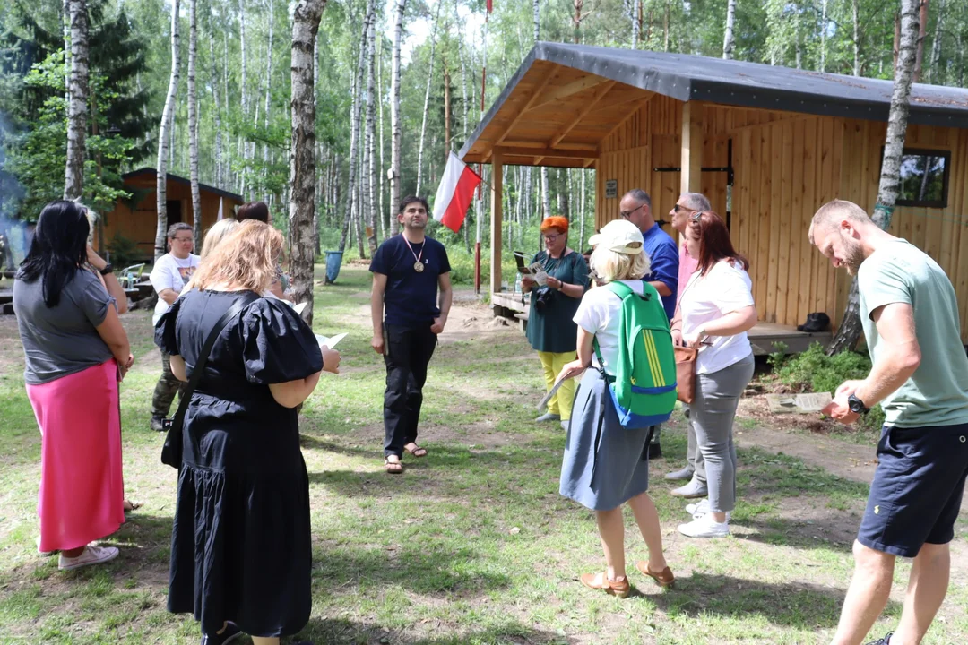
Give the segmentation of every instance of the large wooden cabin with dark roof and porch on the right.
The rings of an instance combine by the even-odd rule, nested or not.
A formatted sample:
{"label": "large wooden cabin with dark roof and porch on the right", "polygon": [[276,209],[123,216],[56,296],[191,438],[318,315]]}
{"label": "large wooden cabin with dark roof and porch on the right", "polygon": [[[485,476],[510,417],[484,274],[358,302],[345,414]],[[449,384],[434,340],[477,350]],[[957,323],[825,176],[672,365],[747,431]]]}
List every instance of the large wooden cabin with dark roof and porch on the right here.
{"label": "large wooden cabin with dark roof and porch on the right", "polygon": [[[460,154],[492,164],[492,302],[501,301],[502,167],[594,168],[596,227],[619,217],[631,189],[650,193],[656,220],[670,219],[681,192],[703,192],[750,260],[761,332],[795,339],[811,311],[835,326],[851,278],[811,247],[807,228],[833,198],[873,212],[891,94],[886,80],[537,44]],[[964,340],[968,90],[915,84],[904,154],[891,232],[951,277]]]}

